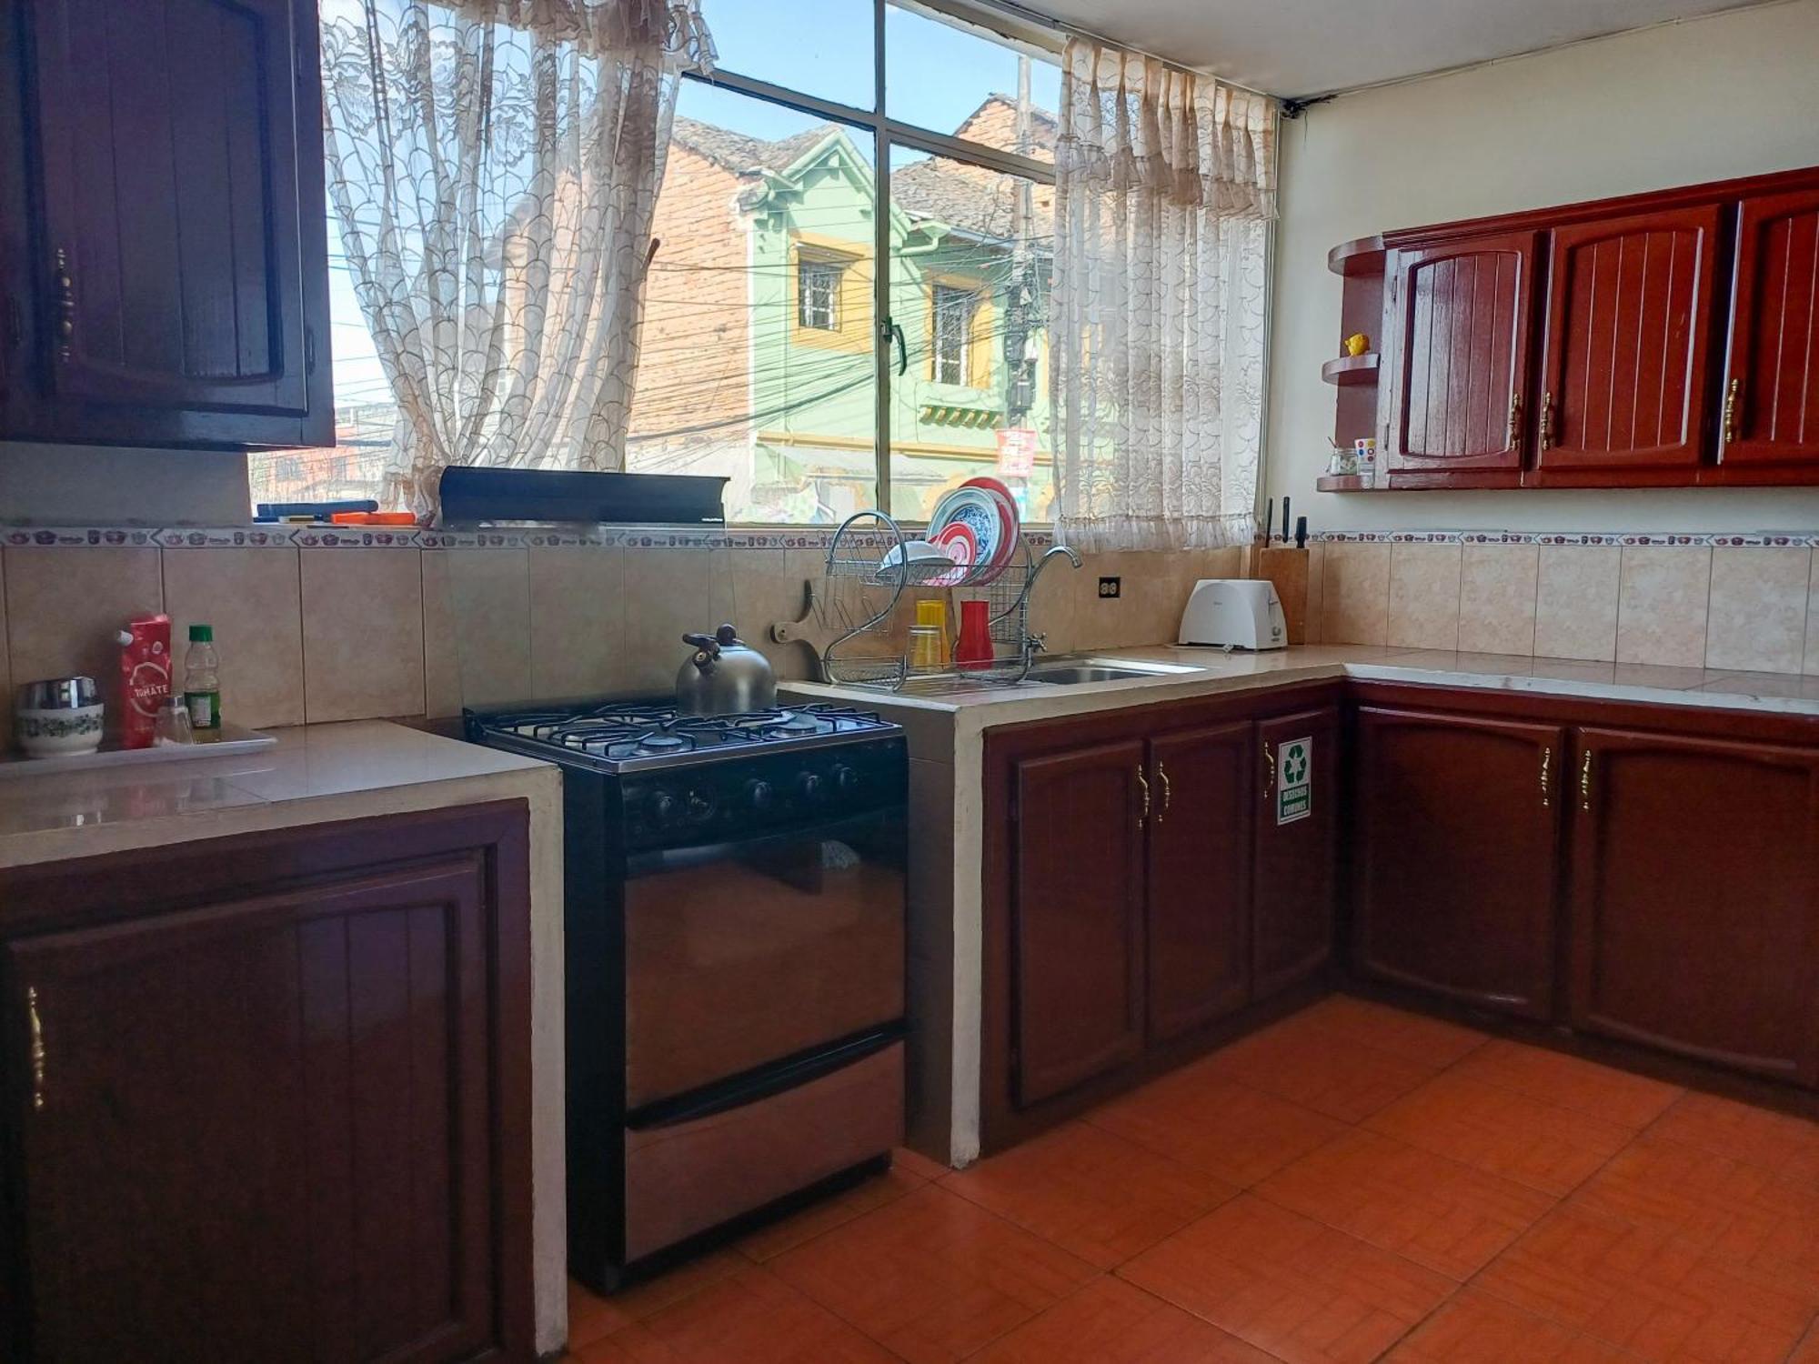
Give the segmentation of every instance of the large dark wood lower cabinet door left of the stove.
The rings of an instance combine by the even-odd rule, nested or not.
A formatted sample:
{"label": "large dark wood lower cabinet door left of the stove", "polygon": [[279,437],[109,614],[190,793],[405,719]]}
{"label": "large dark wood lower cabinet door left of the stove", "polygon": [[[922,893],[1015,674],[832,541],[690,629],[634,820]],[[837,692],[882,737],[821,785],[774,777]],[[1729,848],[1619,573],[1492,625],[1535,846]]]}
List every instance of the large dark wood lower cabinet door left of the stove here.
{"label": "large dark wood lower cabinet door left of the stove", "polygon": [[5,944],[29,1357],[502,1357],[489,920],[473,853]]}

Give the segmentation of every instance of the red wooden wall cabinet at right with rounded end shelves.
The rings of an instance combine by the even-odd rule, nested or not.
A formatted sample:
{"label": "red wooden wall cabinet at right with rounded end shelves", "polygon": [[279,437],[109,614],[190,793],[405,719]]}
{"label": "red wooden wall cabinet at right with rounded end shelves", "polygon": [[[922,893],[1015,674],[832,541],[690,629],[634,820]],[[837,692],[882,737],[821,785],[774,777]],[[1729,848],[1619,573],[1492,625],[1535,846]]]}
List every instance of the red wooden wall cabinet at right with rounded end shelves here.
{"label": "red wooden wall cabinet at right with rounded end shelves", "polygon": [[[1382,300],[1379,487],[1819,482],[1819,167],[1410,227],[1332,262],[1344,329]],[[1350,446],[1372,375],[1342,382]]]}

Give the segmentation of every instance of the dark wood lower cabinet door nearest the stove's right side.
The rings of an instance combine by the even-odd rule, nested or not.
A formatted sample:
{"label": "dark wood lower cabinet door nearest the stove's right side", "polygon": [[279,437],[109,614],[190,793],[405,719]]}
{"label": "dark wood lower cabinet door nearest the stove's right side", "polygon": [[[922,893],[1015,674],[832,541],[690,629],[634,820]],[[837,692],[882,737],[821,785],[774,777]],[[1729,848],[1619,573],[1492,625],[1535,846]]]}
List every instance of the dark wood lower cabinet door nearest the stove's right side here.
{"label": "dark wood lower cabinet door nearest the stove's right side", "polygon": [[1131,738],[1017,762],[1019,1106],[1142,1051],[1144,760]]}

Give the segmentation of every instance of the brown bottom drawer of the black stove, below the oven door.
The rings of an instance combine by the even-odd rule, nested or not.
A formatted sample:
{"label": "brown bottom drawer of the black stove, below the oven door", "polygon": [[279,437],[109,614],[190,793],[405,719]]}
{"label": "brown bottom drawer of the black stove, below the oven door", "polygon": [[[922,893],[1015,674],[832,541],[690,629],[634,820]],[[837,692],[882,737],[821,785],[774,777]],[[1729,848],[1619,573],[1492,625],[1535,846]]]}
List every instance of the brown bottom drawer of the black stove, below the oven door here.
{"label": "brown bottom drawer of the black stove, below the oven door", "polygon": [[626,1131],[626,1259],[637,1260],[889,1151],[904,1044],[749,1104]]}

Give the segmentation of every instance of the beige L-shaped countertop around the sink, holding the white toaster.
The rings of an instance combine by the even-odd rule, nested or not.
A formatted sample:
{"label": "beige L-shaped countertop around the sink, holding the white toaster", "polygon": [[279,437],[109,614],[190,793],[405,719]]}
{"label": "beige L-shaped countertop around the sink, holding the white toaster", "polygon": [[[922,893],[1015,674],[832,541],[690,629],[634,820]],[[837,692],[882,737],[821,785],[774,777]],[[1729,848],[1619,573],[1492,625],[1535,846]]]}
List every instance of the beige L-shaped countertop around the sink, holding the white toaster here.
{"label": "beige L-shaped countertop around the sink, holding the white toaster", "polygon": [[1819,677],[1792,673],[1741,673],[1708,667],[1584,662],[1577,658],[1528,658],[1501,653],[1319,644],[1295,646],[1273,653],[1221,653],[1219,649],[1151,646],[1139,649],[1102,649],[1091,655],[1079,655],[1079,658],[1153,664],[1157,667],[1166,666],[1170,671],[1159,671],[1142,678],[1082,682],[1075,686],[1030,682],[1020,686],[977,684],[950,691],[880,693],[871,687],[789,682],[786,689],[797,695],[842,700],[855,706],[866,702],[873,706],[884,704],[891,709],[893,718],[904,718],[906,711],[926,711],[930,717],[950,715],[955,727],[962,731],[1330,677],[1819,717]]}

